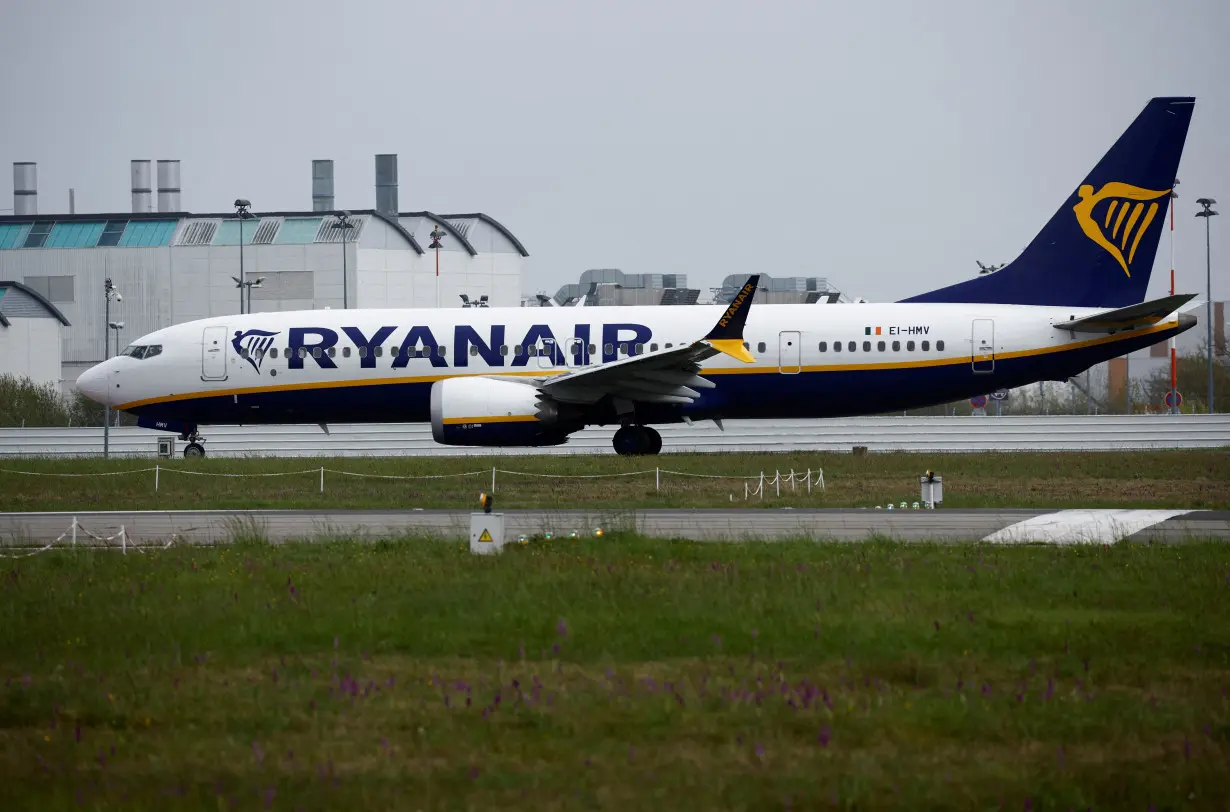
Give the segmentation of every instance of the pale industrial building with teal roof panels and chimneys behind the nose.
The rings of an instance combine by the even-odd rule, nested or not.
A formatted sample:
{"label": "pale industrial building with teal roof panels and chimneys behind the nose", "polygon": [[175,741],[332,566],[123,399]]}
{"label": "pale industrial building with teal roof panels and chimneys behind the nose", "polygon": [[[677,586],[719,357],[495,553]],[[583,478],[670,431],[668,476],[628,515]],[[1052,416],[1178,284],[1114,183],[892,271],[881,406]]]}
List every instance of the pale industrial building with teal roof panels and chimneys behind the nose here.
{"label": "pale industrial building with teal roof panels and chimneys behind the nose", "polygon": [[[183,212],[178,161],[157,162],[155,208],[151,162],[132,161],[130,170],[132,212],[41,214],[37,166],[14,164],[14,214],[0,217],[0,279],[22,283],[65,317],[65,390],[107,357],[105,342],[114,354],[144,333],[241,306],[520,301],[529,256],[522,242],[487,214],[400,212],[396,155],[375,156],[375,208],[344,213],[335,208],[327,160],[312,162],[312,207],[301,212]],[[106,279],[121,294],[109,312]]]}

